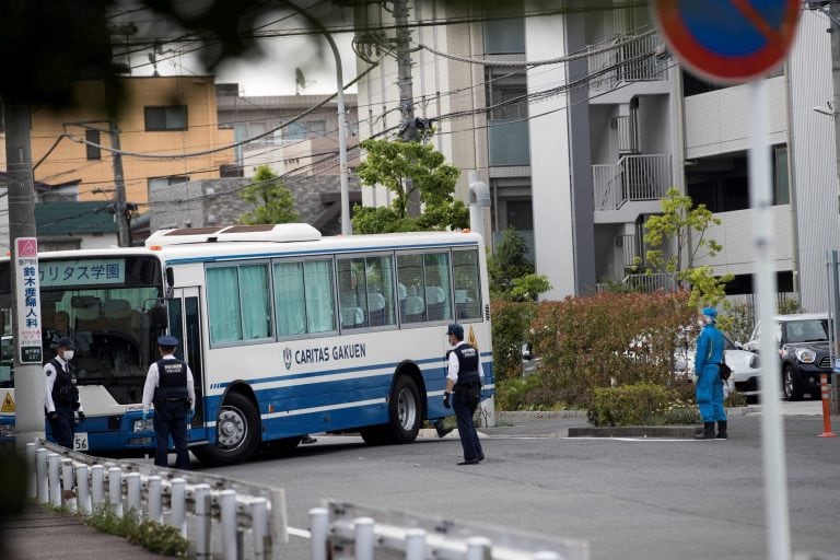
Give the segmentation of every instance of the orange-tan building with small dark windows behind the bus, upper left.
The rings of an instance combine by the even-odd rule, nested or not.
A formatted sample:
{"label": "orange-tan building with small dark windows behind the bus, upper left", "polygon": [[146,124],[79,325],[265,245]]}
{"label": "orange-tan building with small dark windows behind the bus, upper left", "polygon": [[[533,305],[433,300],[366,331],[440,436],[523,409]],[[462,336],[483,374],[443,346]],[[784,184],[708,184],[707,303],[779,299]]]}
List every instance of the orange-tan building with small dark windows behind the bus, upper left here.
{"label": "orange-tan building with small dark windows behind the bus, upper left", "polygon": [[[121,79],[119,86],[126,200],[137,205],[140,213],[148,210],[150,188],[218,178],[234,163],[233,149],[225,148],[233,143],[234,133],[219,128],[212,77],[132,77]],[[33,110],[35,180],[70,189],[80,201],[114,200],[104,85],[78,82],[73,97],[65,109]]]}

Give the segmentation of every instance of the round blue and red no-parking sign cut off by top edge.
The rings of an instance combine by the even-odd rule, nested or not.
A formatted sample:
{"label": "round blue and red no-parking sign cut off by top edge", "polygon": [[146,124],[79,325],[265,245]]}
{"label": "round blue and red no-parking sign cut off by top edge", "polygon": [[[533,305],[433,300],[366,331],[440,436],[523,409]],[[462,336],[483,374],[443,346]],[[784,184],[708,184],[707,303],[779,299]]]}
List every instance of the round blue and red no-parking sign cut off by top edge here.
{"label": "round blue and red no-parking sign cut off by top edge", "polygon": [[796,32],[800,0],[654,0],[660,32],[692,73],[723,84],[779,66]]}

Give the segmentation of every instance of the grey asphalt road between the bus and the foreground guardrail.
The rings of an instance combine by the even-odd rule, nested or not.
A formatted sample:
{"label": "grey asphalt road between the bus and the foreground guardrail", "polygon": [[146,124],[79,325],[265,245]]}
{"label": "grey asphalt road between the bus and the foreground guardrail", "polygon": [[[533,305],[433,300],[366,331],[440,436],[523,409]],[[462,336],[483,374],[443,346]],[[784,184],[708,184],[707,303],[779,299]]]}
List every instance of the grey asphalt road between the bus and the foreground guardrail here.
{"label": "grey asphalt road between the bus and the foreground guardrail", "polygon": [[[792,545],[837,553],[840,439],[817,438],[819,410],[783,405]],[[760,418],[732,416],[731,439],[710,442],[567,439],[585,419],[510,420],[488,430],[488,458],[472,467],[455,465],[453,439],[368,447],[319,436],[288,457],[208,471],[284,488],[299,528],[334,498],[582,538],[593,560],[754,560],[768,557]],[[295,539],[287,558],[306,555]]]}

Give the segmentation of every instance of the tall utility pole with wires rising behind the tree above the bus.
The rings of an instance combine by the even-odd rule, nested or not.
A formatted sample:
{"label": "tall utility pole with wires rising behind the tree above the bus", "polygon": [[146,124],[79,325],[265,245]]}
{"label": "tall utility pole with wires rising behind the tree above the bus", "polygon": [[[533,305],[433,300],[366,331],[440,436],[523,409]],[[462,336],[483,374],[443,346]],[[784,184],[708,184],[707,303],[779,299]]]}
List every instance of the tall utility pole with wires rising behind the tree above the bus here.
{"label": "tall utility pole with wires rising behind the tree above the bus", "polygon": [[[415,93],[411,80],[411,31],[408,27],[408,0],[394,0],[394,23],[397,27],[397,85],[399,86],[399,109],[402,122],[399,137],[404,142],[417,141],[415,125]],[[412,190],[412,182],[406,182],[408,197],[408,215],[420,215],[420,192]]]}

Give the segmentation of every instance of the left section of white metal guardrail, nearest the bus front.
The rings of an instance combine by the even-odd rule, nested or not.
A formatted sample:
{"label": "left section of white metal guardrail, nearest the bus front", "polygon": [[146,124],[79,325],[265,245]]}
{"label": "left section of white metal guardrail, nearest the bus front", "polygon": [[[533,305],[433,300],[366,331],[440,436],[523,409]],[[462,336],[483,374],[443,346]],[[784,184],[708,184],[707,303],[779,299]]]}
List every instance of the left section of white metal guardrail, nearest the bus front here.
{"label": "left section of white metal guardrail, nearest the bus front", "polygon": [[[196,558],[224,560],[280,559],[289,541],[282,490],[244,485],[221,477],[151,467],[130,460],[105,460],[38,441],[26,444],[30,498],[82,515],[102,509],[121,517],[176,527],[190,541]],[[189,522],[189,523],[188,523]],[[245,536],[252,542],[246,546]]]}

